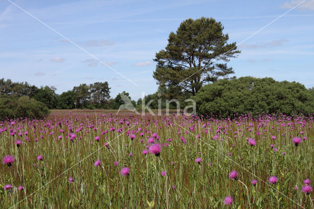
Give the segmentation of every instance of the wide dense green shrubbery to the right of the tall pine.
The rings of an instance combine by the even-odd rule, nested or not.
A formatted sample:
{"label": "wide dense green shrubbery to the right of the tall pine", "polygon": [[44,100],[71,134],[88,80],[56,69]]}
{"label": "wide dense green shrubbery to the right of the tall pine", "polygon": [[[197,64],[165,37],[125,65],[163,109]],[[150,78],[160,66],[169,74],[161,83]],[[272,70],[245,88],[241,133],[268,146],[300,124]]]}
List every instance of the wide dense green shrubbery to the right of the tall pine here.
{"label": "wide dense green shrubbery to the right of the tall pine", "polygon": [[193,99],[198,113],[203,115],[314,112],[312,89],[297,82],[279,82],[272,78],[221,79],[202,87]]}

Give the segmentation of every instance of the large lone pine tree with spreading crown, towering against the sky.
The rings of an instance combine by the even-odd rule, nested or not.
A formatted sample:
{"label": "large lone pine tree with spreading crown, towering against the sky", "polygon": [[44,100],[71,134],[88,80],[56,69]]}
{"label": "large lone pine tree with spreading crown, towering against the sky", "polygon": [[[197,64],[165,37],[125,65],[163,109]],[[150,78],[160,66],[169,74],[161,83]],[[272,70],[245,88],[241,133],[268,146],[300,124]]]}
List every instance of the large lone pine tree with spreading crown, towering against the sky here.
{"label": "large lone pine tree with spreading crown, towering against the sky", "polygon": [[156,53],[157,84],[179,86],[194,96],[204,84],[233,74],[226,63],[240,51],[235,42],[227,43],[223,29],[213,18],[183,21],[176,33],[170,33],[165,50]]}

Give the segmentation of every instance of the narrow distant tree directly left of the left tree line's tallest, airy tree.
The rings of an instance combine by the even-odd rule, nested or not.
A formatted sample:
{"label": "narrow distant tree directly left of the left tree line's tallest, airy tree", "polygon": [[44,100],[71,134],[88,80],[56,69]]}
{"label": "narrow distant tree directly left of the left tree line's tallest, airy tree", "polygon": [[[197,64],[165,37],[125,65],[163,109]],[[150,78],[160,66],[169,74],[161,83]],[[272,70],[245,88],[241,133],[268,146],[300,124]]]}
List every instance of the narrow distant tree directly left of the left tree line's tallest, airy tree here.
{"label": "narrow distant tree directly left of the left tree line's tallest, airy tree", "polygon": [[73,88],[75,108],[84,108],[90,104],[91,93],[89,89],[90,87],[86,83]]}

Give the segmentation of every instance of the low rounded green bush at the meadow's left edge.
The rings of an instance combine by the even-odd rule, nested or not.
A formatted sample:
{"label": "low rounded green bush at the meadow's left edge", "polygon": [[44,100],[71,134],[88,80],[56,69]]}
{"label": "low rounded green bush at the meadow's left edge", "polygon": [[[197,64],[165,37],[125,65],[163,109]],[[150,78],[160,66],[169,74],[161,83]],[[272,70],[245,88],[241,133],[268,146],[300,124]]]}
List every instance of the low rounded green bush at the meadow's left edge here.
{"label": "low rounded green bush at the meadow's left edge", "polygon": [[0,98],[0,119],[42,118],[49,113],[46,104],[29,97]]}

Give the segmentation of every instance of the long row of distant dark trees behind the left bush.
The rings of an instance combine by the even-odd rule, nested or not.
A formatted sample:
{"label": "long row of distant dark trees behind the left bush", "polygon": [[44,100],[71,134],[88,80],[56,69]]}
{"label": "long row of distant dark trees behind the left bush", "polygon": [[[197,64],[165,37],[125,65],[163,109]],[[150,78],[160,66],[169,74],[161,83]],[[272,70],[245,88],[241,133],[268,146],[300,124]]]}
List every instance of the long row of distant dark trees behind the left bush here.
{"label": "long row of distant dark trees behind the left bush", "polygon": [[[45,104],[49,109],[73,109],[73,108],[99,108],[118,109],[124,104],[121,95],[110,98],[108,82],[82,83],[74,86],[72,90],[57,94],[53,86],[41,86],[40,88],[28,82],[13,82],[11,79],[0,79],[0,97],[17,99],[28,97]],[[134,106],[129,93],[123,92]]]}

